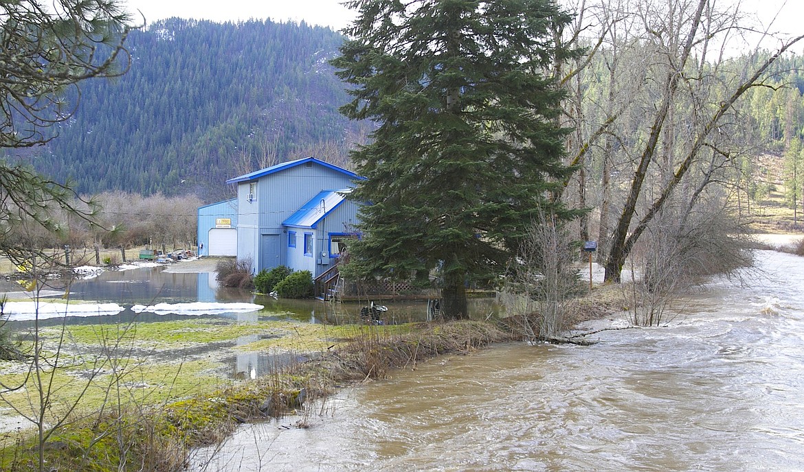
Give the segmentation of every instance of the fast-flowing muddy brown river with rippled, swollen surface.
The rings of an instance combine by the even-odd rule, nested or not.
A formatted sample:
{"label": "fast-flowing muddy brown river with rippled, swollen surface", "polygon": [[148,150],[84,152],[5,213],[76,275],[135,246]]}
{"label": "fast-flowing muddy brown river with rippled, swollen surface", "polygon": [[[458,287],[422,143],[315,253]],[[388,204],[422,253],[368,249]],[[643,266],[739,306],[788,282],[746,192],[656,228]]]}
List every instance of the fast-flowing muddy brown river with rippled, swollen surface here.
{"label": "fast-flowing muddy brown river with rippled, swollen surface", "polygon": [[343,390],[309,428],[241,426],[194,468],[804,470],[804,258],[757,259],[667,327],[431,360]]}

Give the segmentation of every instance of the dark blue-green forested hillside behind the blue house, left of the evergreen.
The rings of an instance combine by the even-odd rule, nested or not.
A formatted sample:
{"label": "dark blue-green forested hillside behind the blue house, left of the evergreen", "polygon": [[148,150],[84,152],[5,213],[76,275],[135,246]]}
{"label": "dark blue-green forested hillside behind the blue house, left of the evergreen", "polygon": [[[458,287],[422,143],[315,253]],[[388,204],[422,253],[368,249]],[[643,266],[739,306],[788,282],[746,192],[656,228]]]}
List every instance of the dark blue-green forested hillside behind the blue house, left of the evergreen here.
{"label": "dark blue-green forested hillside behind the blue house, left of the evergreen", "polygon": [[347,96],[326,61],[341,42],[303,22],[157,22],[129,35],[129,72],[84,83],[57,139],[27,157],[81,193],[205,201],[233,191],[227,178],[277,160],[317,154],[343,164],[365,132],[338,114]]}

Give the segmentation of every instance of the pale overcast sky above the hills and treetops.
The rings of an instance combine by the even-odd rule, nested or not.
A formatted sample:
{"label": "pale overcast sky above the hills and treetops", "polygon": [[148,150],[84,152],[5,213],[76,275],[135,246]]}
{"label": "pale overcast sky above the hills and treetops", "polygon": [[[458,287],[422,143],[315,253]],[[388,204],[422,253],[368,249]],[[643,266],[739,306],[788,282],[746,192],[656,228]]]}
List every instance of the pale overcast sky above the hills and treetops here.
{"label": "pale overcast sky above the hills and treetops", "polygon": [[[196,18],[217,22],[271,18],[330,26],[340,30],[354,18],[341,0],[124,0],[129,10],[142,11],[148,22],[163,18]],[[757,13],[768,23],[777,17],[777,30],[790,35],[804,34],[804,0],[712,0],[741,2],[746,12]],[[771,45],[768,45],[771,46]]]}

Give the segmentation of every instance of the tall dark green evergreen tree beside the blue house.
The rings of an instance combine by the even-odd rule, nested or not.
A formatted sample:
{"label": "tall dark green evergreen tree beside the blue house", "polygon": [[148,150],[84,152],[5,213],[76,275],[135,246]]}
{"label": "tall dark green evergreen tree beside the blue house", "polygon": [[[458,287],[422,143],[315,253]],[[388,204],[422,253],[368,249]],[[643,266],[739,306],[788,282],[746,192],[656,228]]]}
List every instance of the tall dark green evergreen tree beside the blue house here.
{"label": "tall dark green evergreen tree beside the blue house", "polygon": [[552,0],[353,0],[333,61],[351,84],[342,112],[375,120],[352,154],[363,238],[350,269],[427,280],[467,315],[466,286],[499,275],[551,198],[562,164],[561,92],[543,71],[572,51]]}

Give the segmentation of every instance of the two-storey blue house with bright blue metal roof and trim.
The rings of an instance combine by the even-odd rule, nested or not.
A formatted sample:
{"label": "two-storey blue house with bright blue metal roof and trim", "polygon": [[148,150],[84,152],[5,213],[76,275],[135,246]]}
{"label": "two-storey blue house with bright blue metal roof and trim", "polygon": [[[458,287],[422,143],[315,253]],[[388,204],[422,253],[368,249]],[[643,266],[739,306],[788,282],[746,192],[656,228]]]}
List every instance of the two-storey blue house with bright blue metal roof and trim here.
{"label": "two-storey blue house with bright blue metal roof and trim", "polygon": [[237,258],[320,275],[355,236],[357,174],[306,157],[227,181],[237,185]]}

